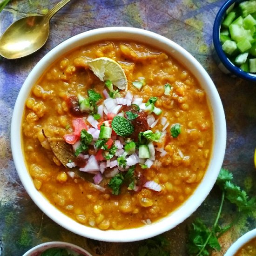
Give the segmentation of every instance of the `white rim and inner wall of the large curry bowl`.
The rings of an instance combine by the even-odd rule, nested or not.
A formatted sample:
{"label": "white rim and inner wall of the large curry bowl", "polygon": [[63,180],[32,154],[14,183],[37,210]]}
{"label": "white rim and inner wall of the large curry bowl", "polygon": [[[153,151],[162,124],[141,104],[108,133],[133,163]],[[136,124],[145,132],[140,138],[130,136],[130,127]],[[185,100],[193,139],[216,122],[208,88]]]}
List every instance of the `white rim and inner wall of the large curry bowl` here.
{"label": "white rim and inner wall of the large curry bowl", "polygon": [[[17,132],[17,130],[21,128],[25,101],[31,91],[32,86],[52,62],[61,57],[62,54],[65,54],[67,51],[70,51],[75,47],[99,40],[110,39],[136,40],[145,44],[156,46],[157,48],[160,48],[172,55],[195,75],[202,88],[208,95],[209,106],[212,110],[212,118],[214,123],[214,145],[209,167],[202,179],[202,182],[195,189],[193,195],[191,195],[189,199],[182,204],[182,206],[180,206],[170,215],[162,218],[160,221],[154,222],[150,225],[136,229],[102,231],[100,229],[84,226],[67,217],[61,213],[61,211],[56,209],[50,202],[48,202],[48,200],[42,194],[40,194],[37,189],[35,189],[32,178],[30,177],[24,162],[21,147],[21,133]],[[185,49],[161,35],[146,30],[132,27],[104,27],[69,38],[46,54],[34,67],[20,89],[20,94],[18,95],[14,107],[11,127],[11,145],[14,163],[20,176],[20,180],[27,190],[27,193],[37,204],[37,206],[47,216],[54,220],[54,222],[57,222],[62,227],[78,235],[86,236],[88,238],[108,242],[131,242],[153,237],[174,228],[176,225],[188,218],[201,205],[216,182],[216,178],[222,166],[226,146],[226,121],[222,102],[213,81],[210,79],[209,75],[199,64],[199,62],[196,61],[195,58]]]}

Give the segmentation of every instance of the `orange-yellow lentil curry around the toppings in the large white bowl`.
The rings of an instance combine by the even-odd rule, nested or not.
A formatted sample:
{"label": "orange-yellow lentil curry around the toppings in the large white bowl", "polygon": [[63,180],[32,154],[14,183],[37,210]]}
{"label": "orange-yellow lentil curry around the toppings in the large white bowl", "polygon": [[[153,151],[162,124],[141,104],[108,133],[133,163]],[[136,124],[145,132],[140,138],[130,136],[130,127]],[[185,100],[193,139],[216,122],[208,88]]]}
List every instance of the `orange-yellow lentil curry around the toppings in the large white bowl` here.
{"label": "orange-yellow lentil curry around the toppings in the large white bowl", "polygon": [[[122,50],[121,44],[125,46]],[[177,138],[171,137],[170,126],[167,128],[165,156],[160,157],[156,151],[151,168],[136,165],[146,180],[162,186],[160,192],[146,188],[135,192],[122,187],[120,195],[112,195],[110,190],[101,192],[81,178],[72,178],[67,175],[72,169],[65,168],[54,156],[42,133],[44,129],[47,136],[60,140],[72,133],[74,115],[67,97],[78,93],[86,96],[88,88],[102,94],[104,82],[88,69],[84,60],[103,56],[119,62],[128,79],[128,90],[134,96],[143,98],[143,102],[150,96],[158,97],[155,106],[163,110],[160,117],[166,117],[170,124],[181,124]],[[140,77],[145,78],[146,85],[138,90],[132,81]],[[173,87],[170,96],[164,94],[166,83]],[[157,129],[162,130],[160,121],[152,130]],[[54,206],[87,226],[128,229],[161,219],[193,193],[209,164],[213,123],[207,96],[178,61],[153,47],[112,40],[76,48],[50,65],[27,99],[22,138],[34,185]]]}

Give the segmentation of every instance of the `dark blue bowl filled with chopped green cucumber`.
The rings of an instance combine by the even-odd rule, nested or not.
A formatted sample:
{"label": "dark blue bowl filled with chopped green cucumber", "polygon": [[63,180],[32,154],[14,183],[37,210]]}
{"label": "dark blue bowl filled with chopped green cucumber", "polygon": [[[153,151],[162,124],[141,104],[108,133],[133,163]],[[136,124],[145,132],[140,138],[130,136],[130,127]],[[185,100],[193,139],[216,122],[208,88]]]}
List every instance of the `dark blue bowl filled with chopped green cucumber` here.
{"label": "dark blue bowl filled with chopped green cucumber", "polygon": [[256,0],[228,0],[213,26],[213,57],[225,73],[256,81]]}

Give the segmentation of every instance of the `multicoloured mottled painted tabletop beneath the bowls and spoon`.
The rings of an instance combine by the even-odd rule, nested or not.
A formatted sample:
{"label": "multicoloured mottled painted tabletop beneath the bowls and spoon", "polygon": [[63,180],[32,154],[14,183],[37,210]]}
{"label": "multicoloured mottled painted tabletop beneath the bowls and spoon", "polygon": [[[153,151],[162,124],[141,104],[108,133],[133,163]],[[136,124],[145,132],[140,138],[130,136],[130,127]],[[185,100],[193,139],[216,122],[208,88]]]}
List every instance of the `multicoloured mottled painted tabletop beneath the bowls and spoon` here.
{"label": "multicoloured mottled painted tabletop beneath the bowls and spoon", "polygon": [[[57,0],[12,0],[0,13],[0,34],[28,13],[41,14]],[[72,0],[51,20],[51,33],[45,47],[20,60],[0,59],[0,256],[20,256],[31,247],[47,241],[66,241],[88,249],[94,255],[136,255],[141,242],[104,243],[74,235],[45,216],[32,202],[16,173],[11,148],[10,124],[13,107],[22,83],[34,65],[53,47],[81,32],[111,26],[147,29],[161,34],[187,49],[208,71],[221,96],[227,120],[227,148],[223,167],[249,195],[256,195],[256,84],[233,79],[216,67],[211,52],[212,27],[225,0]],[[17,127],[17,132],[19,132]],[[214,188],[202,206],[185,222],[166,232],[171,255],[185,256],[187,226],[200,216],[212,223],[220,202]],[[254,218],[239,216],[228,203],[222,222],[236,221],[221,238],[221,256],[229,245],[256,227]]]}

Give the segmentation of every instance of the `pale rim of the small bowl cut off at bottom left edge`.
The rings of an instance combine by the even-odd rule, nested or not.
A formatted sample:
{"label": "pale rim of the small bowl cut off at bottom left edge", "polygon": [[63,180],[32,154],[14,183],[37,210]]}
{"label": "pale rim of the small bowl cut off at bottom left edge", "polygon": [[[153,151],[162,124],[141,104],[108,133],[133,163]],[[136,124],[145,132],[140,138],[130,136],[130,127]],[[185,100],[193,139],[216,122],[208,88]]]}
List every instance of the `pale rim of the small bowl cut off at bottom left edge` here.
{"label": "pale rim of the small bowl cut off at bottom left edge", "polygon": [[85,249],[83,249],[75,244],[65,243],[65,242],[41,243],[41,244],[33,247],[29,251],[27,251],[25,254],[23,254],[23,256],[40,256],[40,254],[42,252],[44,252],[45,250],[50,249],[50,248],[65,248],[65,249],[73,250],[74,252],[80,253],[81,255],[84,255],[84,256],[92,256]]}

